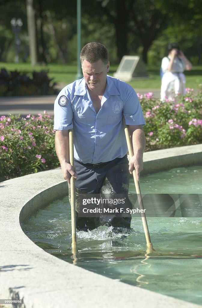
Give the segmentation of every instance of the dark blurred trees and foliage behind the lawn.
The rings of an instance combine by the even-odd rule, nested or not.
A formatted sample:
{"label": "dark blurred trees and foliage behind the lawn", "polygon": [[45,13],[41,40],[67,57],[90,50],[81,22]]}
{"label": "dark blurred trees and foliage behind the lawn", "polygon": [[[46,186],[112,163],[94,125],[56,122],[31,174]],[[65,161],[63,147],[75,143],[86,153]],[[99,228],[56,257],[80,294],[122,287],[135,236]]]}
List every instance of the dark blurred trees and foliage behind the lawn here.
{"label": "dark blurred trees and foliage behind the lawn", "polygon": [[[25,0],[0,0],[0,62],[14,62],[12,18],[21,18],[19,62],[30,62]],[[39,64],[76,63],[77,1],[33,0]],[[201,0],[81,0],[81,46],[103,43],[113,64],[140,55],[160,66],[168,43],[177,42],[193,65],[201,64]]]}

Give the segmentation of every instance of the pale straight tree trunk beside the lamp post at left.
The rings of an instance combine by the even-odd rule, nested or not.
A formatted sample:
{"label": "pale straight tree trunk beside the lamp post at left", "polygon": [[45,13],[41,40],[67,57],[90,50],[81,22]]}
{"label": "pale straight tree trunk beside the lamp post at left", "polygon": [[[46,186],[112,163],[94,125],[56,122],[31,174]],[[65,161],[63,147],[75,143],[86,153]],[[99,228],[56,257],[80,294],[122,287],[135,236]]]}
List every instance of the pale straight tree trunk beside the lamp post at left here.
{"label": "pale straight tree trunk beside the lamp post at left", "polygon": [[36,25],[35,11],[33,8],[33,0],[26,0],[27,9],[27,27],[29,35],[30,59],[31,65],[37,65],[37,48],[36,48]]}

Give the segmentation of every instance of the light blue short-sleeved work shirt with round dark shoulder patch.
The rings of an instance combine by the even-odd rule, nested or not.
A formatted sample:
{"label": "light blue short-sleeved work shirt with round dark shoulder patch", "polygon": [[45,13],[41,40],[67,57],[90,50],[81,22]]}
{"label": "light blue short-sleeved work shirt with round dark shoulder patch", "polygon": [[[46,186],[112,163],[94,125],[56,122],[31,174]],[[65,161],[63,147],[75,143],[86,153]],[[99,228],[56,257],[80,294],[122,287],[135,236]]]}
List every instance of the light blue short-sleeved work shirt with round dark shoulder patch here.
{"label": "light blue short-sleeved work shirt with round dark shoulder patch", "polygon": [[[54,129],[74,126],[74,157],[84,164],[107,162],[127,153],[122,117],[127,125],[144,125],[134,89],[107,75],[101,108],[96,114],[84,78],[64,87],[54,104]],[[73,122],[72,122],[73,120]]]}

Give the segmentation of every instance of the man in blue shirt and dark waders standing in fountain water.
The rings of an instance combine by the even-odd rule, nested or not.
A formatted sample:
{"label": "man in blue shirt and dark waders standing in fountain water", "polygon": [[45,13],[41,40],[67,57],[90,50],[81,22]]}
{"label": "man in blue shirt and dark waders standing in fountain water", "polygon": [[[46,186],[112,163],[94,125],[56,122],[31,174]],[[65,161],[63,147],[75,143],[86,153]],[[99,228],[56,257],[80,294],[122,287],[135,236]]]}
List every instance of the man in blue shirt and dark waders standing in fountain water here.
{"label": "man in blue shirt and dark waders standing in fountain water", "polygon": [[[84,231],[100,225],[130,228],[130,213],[123,213],[124,210],[120,213],[119,208],[132,209],[128,199],[129,171],[132,173],[135,168],[139,180],[143,169],[143,112],[133,88],[107,75],[110,64],[105,46],[86,44],[80,60],[83,78],[64,87],[54,105],[55,148],[63,177],[69,184],[71,176],[76,179],[76,227]],[[134,149],[129,171],[123,115]],[[71,128],[74,128],[75,170],[69,160]],[[98,194],[97,199],[102,196],[114,201],[115,196],[117,199],[117,194],[121,194],[124,202],[108,204],[109,214],[98,211],[96,215],[88,213],[87,217],[80,217],[78,195],[86,193]],[[94,207],[85,205],[85,211],[88,207],[95,209],[96,204]]]}

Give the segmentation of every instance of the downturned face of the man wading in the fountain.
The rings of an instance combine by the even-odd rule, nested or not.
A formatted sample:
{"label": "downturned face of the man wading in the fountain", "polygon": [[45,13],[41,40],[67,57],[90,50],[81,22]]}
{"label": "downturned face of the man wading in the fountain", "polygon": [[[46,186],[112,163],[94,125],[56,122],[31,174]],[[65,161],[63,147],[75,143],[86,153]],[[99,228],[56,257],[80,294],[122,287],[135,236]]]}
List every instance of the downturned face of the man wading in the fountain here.
{"label": "downturned face of the man wading in the fountain", "polygon": [[90,63],[86,60],[82,64],[83,77],[89,90],[97,92],[102,95],[107,80],[107,72],[109,71],[109,62],[107,65],[100,59],[95,63]]}

